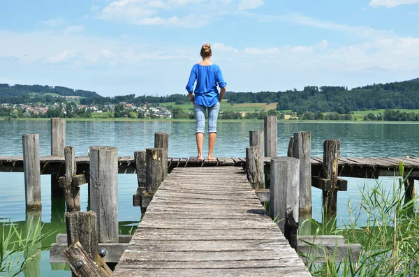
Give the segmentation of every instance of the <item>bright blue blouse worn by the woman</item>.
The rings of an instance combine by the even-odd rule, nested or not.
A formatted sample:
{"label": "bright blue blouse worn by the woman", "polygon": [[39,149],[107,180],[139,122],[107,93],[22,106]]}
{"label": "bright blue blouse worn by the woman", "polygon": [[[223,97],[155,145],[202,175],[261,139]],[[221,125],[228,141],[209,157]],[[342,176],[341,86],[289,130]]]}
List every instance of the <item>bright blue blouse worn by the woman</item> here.
{"label": "bright blue blouse worn by the woman", "polygon": [[[196,86],[193,90],[193,84]],[[219,91],[216,85],[220,88],[226,87],[221,68],[216,64],[210,66],[201,66],[196,63],[191,70],[188,84],[186,84],[186,91],[195,93],[195,103],[205,107],[214,106],[220,99]]]}

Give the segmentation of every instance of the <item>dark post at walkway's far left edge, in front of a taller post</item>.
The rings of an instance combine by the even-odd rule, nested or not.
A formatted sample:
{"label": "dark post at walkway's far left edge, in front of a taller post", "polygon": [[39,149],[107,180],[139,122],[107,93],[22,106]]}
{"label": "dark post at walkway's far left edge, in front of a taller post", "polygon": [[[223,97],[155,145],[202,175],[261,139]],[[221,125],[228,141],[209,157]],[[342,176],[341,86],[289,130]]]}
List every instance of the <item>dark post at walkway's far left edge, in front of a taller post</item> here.
{"label": "dark post at walkway's far left edge, in front of a taller post", "polygon": [[147,193],[154,195],[163,181],[163,149],[161,148],[147,148],[146,151],[146,178],[147,183],[145,188]]}

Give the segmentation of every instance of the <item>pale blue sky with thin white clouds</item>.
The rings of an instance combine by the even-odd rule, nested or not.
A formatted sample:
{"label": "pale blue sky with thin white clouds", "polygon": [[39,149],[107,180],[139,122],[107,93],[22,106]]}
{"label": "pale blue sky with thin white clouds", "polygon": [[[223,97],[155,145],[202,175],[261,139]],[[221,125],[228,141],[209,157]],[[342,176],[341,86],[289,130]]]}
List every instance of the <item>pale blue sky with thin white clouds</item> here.
{"label": "pale blue sky with thin white clouds", "polygon": [[419,0],[0,0],[0,83],[185,93],[212,45],[227,91],[419,77]]}

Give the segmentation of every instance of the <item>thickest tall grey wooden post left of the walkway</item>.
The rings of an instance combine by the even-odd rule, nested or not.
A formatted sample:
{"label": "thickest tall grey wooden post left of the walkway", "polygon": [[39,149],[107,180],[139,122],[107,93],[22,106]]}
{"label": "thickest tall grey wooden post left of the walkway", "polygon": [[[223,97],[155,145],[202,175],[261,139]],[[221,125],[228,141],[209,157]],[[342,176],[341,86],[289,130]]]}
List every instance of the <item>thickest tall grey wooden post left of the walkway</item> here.
{"label": "thickest tall grey wooden post left of the walkway", "polygon": [[118,149],[90,147],[90,205],[99,242],[118,242]]}

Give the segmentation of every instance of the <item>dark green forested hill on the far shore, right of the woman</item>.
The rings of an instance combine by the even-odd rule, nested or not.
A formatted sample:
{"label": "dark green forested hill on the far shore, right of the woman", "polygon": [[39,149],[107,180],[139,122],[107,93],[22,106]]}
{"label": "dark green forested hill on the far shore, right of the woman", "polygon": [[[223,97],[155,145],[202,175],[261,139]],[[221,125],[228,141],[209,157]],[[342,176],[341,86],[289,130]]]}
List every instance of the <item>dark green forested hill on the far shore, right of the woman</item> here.
{"label": "dark green forested hill on the far shore, right of the woman", "polygon": [[419,109],[418,79],[372,84],[364,87],[308,86],[302,91],[261,91],[229,93],[228,102],[274,103],[277,110],[295,112],[338,112],[374,109]]}

